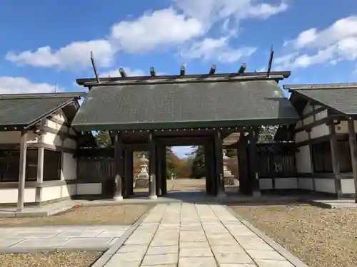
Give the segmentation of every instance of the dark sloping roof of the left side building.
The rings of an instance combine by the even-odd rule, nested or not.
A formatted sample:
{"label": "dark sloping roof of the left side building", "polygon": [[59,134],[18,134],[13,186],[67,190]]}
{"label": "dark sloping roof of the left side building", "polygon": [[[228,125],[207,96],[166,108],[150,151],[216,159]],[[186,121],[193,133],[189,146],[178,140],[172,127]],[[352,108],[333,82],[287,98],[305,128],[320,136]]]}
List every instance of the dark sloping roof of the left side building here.
{"label": "dark sloping roof of the left side building", "polygon": [[1,126],[30,126],[56,110],[71,103],[73,97],[43,97],[29,95],[0,96],[0,125]]}

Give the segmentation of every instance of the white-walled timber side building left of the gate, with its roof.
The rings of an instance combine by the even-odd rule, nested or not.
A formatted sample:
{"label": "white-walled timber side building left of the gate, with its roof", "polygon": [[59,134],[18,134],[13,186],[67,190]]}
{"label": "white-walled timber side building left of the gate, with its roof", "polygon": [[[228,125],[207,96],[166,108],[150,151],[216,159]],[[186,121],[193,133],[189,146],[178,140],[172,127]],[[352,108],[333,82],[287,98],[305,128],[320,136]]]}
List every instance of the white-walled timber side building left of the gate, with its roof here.
{"label": "white-walled timber side building left of the gate, with its roof", "polygon": [[76,149],[96,146],[91,132],[71,127],[84,95],[0,95],[0,205],[21,210],[101,194],[101,184],[76,177]]}

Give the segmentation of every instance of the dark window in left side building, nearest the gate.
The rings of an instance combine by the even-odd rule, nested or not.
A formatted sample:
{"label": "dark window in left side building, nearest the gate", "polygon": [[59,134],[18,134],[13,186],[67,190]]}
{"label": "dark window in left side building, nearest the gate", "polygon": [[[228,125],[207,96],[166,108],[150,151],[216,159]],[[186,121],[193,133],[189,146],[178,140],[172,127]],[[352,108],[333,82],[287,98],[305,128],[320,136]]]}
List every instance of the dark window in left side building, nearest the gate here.
{"label": "dark window in left side building, nearest the gate", "polygon": [[62,153],[53,150],[44,150],[44,181],[61,179]]}

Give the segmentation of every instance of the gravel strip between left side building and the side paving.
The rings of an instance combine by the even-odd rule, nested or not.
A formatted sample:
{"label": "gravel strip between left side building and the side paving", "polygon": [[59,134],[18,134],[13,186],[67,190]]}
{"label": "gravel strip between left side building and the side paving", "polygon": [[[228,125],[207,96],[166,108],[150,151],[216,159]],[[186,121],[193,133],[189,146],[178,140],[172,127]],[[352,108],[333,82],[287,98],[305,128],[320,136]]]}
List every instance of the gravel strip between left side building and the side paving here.
{"label": "gravel strip between left side building and the side paving", "polygon": [[0,218],[0,227],[134,224],[149,205],[93,206],[49,217]]}

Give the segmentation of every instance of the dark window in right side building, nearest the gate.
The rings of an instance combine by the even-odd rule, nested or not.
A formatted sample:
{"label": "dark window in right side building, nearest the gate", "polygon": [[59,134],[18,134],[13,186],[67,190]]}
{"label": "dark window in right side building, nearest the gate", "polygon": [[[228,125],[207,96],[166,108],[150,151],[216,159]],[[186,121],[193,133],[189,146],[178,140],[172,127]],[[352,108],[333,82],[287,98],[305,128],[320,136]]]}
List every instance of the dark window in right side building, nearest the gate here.
{"label": "dark window in right side building, nearest the gate", "polygon": [[330,142],[311,145],[314,172],[332,172],[332,158]]}

